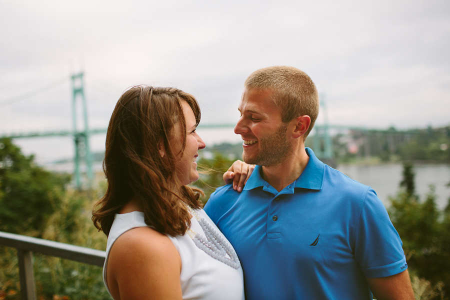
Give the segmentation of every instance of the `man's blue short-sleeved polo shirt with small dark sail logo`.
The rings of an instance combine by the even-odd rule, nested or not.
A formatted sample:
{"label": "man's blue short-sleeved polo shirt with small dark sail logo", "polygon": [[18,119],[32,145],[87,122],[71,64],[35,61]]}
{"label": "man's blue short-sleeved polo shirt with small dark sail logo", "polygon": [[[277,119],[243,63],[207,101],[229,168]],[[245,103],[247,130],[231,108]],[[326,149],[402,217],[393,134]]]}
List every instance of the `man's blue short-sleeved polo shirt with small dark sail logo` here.
{"label": "man's blue short-sleeved polo shirt with small dark sail logo", "polygon": [[242,192],[219,187],[204,210],[239,256],[247,300],[372,299],[364,276],[407,267],[398,233],[373,189],[306,152],[280,192],[256,166]]}

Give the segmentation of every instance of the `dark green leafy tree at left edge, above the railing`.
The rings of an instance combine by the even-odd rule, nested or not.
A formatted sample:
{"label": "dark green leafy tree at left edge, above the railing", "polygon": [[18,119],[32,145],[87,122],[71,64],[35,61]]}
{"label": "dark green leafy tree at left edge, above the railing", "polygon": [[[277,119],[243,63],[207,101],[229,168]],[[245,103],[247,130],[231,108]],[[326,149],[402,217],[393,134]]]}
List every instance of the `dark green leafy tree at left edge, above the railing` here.
{"label": "dark green leafy tree at left edge, above the railing", "polygon": [[[24,156],[10,139],[0,139],[0,230],[41,236],[42,225],[59,209],[67,174],[51,173]],[[31,233],[31,231],[34,233]]]}

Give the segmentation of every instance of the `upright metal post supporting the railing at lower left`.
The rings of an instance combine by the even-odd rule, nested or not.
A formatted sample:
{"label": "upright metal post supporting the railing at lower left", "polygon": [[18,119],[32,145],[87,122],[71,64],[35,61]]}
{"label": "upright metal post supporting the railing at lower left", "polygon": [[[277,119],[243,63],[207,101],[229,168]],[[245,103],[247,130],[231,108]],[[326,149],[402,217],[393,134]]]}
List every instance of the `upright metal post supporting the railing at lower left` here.
{"label": "upright metal post supporting the railing at lower left", "polygon": [[22,300],[36,300],[33,274],[33,253],[17,249],[20,276],[20,294]]}

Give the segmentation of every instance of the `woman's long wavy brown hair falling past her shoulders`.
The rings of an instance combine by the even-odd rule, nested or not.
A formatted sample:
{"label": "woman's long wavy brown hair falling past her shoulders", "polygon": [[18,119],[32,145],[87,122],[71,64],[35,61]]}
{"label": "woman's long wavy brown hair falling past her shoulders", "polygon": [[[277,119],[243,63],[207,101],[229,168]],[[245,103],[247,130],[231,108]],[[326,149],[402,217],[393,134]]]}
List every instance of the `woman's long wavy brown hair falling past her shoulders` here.
{"label": "woman's long wavy brown hair falling past her shoulders", "polygon": [[[200,108],[195,98],[171,87],[133,86],[117,101],[106,133],[103,170],[108,186],[92,210],[92,221],[106,235],[115,213],[132,197],[143,208],[145,223],[169,235],[182,235],[190,226],[186,204],[199,208],[201,191],[179,186],[175,164],[181,152],[174,153],[170,138],[179,122],[185,128],[181,102],[192,108],[196,124]],[[165,155],[161,157],[160,145]]]}

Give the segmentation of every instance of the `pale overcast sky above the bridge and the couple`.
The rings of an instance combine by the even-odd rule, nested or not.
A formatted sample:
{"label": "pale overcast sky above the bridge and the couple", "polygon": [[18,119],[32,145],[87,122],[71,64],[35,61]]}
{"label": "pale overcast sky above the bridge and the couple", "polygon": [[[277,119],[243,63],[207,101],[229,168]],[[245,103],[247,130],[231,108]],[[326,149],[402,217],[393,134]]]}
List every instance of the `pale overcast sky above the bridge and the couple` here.
{"label": "pale overcast sky above the bridge and the couple", "polygon": [[[243,81],[270,65],[305,71],[331,124],[450,124],[448,0],[0,0],[0,37],[0,134],[70,129],[81,69],[94,128],[140,83],[192,93],[202,123],[234,123]],[[73,152],[70,139],[19,143]]]}

